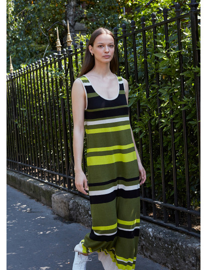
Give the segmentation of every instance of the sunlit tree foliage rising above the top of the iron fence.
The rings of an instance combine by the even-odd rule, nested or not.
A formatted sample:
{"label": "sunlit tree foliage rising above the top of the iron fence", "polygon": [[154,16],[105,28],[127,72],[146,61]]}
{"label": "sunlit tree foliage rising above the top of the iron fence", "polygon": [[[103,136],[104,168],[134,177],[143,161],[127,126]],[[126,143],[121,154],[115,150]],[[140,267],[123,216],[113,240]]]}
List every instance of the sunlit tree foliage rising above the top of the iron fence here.
{"label": "sunlit tree foliage rising above the top of the iron fence", "polygon": [[[181,4],[183,12],[190,10],[190,0],[176,2]],[[153,0],[150,4],[147,3],[149,0],[6,0],[7,71],[9,71],[9,55],[15,70],[22,63],[32,63],[55,51],[57,26],[63,45],[67,33],[66,18],[71,23],[72,34],[76,20],[85,23],[87,33],[98,27],[107,27],[111,30],[115,26],[120,28],[123,22],[130,30],[129,22],[132,19],[136,21],[137,27],[140,26],[141,16],[145,16],[146,22],[151,24],[152,12],[156,12],[158,20],[162,19],[162,9],[164,7],[172,9],[175,1]],[[69,8],[75,12],[73,19]]]}

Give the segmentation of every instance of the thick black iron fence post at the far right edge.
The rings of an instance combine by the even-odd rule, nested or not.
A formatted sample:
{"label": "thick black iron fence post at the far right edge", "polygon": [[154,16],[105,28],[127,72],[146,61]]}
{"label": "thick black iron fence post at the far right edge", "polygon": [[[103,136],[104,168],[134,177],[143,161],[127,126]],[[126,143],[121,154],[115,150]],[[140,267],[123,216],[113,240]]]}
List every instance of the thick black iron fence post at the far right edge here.
{"label": "thick black iron fence post at the far right edge", "polygon": [[[200,49],[198,46],[199,41],[199,29],[198,29],[198,13],[194,12],[197,10],[198,3],[196,0],[191,0],[189,6],[191,7],[191,34],[192,34],[192,48],[193,48],[193,63],[194,67],[200,66],[201,57]],[[195,79],[195,93],[196,93],[196,107],[197,107],[197,126],[198,126],[198,147],[199,147],[199,170],[201,175],[201,165],[200,165],[200,134],[201,134],[201,78],[194,72]]]}

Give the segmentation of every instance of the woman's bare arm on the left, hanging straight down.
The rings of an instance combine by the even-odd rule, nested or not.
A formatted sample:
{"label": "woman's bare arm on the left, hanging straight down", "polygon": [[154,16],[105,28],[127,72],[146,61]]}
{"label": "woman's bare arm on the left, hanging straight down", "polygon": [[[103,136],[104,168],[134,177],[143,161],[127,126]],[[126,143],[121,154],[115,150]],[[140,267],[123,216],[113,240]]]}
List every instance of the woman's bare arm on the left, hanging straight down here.
{"label": "woman's bare arm on the left, hanging straight down", "polygon": [[[84,108],[85,91],[79,79],[72,86],[72,112],[73,112],[73,155],[75,170],[75,186],[87,195],[87,178],[82,170],[83,140],[84,140]],[[84,187],[85,190],[84,190]]]}

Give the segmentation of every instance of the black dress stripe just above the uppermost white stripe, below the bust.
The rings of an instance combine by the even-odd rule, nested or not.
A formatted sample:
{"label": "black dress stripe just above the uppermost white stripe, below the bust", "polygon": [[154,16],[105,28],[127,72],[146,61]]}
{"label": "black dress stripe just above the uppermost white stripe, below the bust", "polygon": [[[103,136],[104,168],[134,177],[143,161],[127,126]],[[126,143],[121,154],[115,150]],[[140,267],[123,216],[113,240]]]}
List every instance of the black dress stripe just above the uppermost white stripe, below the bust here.
{"label": "black dress stripe just above the uppermost white stripe, below the bust", "polygon": [[[89,107],[88,107],[89,109]],[[87,111],[85,110],[85,119],[96,119],[103,117],[119,116],[119,115],[129,115],[128,107],[98,110],[98,111]]]}

